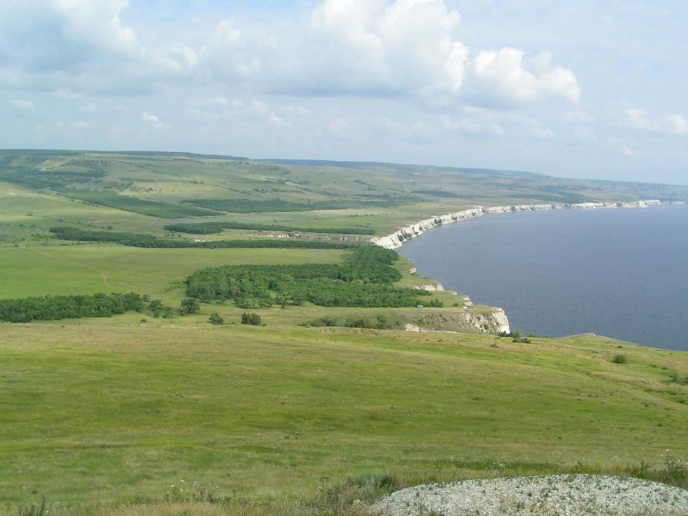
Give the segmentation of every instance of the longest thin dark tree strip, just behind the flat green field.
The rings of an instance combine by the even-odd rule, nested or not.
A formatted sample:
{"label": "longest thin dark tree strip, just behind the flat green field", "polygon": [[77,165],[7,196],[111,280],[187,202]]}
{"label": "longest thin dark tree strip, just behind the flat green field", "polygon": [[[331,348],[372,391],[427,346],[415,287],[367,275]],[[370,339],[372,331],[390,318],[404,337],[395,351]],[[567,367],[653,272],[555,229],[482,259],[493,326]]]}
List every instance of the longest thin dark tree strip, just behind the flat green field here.
{"label": "longest thin dark tree strip, just behind the flat green field", "polygon": [[79,228],[54,227],[50,228],[58,239],[85,242],[111,242],[122,246],[143,248],[283,248],[283,249],[350,249],[352,244],[336,241],[318,240],[217,240],[194,242],[191,240],[174,240],[142,235],[140,233],[116,233],[114,231],[90,231]]}

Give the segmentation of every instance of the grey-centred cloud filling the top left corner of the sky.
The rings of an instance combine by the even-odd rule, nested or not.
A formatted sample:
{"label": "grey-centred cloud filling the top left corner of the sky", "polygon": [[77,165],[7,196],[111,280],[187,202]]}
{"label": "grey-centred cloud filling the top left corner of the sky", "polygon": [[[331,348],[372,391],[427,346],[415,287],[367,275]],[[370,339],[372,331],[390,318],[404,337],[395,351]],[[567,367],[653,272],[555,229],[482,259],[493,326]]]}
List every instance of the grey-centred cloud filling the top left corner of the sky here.
{"label": "grey-centred cloud filling the top left corner of the sky", "polygon": [[0,72],[13,87],[83,92],[150,92],[186,77],[195,51],[144,45],[120,14],[128,0],[0,0]]}

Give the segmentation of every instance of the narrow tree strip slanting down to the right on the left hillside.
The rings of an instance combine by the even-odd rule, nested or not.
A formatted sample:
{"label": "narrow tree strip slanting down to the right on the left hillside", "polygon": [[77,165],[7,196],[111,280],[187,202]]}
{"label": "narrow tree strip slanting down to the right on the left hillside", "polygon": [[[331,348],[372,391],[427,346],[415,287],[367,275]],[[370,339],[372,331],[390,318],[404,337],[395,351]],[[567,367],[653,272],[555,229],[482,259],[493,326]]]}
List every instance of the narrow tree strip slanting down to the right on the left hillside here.
{"label": "narrow tree strip slanting down to the right on the left hillside", "polygon": [[118,210],[131,211],[132,213],[140,213],[141,215],[149,215],[151,217],[160,217],[163,219],[219,215],[217,211],[194,208],[193,206],[178,206],[177,204],[150,201],[105,191],[63,190],[61,193],[70,199],[98,204],[99,206],[109,206],[110,208],[117,208]]}

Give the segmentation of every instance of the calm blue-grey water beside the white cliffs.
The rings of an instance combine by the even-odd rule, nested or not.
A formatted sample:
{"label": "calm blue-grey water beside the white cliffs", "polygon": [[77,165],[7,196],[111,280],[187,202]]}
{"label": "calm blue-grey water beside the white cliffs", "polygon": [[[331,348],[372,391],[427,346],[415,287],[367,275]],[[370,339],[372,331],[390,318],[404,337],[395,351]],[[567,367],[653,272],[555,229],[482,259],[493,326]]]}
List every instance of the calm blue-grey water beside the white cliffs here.
{"label": "calm blue-grey water beside the white cliffs", "polygon": [[688,206],[484,215],[399,251],[512,330],[688,350]]}

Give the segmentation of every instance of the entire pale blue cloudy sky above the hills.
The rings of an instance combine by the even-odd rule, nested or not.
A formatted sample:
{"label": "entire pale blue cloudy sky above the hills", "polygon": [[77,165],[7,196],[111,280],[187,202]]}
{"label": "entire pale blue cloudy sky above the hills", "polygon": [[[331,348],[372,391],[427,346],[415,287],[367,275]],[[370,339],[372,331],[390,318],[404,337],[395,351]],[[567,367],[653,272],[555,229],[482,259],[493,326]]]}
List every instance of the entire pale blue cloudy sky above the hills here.
{"label": "entire pale blue cloudy sky above the hills", "polygon": [[0,149],[688,184],[685,0],[0,0]]}

